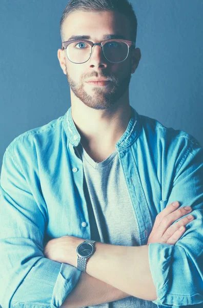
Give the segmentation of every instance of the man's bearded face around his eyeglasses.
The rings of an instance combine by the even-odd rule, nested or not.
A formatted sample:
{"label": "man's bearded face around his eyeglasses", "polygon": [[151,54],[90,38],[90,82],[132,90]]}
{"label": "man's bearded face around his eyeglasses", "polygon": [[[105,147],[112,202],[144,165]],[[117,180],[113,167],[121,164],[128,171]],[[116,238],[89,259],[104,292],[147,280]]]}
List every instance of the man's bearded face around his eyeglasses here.
{"label": "man's bearded face around his eyeglasses", "polygon": [[[72,35],[87,35],[89,41],[100,43],[108,34],[122,35],[126,40],[131,40],[127,17],[113,11],[75,11],[64,21],[63,33],[64,41],[68,41]],[[62,69],[67,75],[70,89],[80,101],[94,109],[108,109],[128,91],[131,73],[135,70],[133,54],[134,51],[130,48],[124,62],[111,63],[105,58],[101,47],[94,46],[92,55],[86,63],[70,62],[66,51],[64,51],[65,63],[62,60],[59,62],[61,66],[64,64]],[[104,78],[110,82],[105,86],[87,83],[96,78]]]}

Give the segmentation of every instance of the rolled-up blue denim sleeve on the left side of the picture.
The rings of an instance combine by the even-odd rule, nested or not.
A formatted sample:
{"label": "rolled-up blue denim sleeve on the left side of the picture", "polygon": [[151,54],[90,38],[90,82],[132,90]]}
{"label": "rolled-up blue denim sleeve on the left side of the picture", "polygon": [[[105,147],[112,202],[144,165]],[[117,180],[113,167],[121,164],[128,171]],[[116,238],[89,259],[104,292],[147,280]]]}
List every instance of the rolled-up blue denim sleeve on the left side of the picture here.
{"label": "rolled-up blue denim sleeve on the left side of the picture", "polygon": [[7,148],[0,185],[0,304],[4,308],[55,308],[81,272],[44,257],[47,213],[23,172],[26,162]]}

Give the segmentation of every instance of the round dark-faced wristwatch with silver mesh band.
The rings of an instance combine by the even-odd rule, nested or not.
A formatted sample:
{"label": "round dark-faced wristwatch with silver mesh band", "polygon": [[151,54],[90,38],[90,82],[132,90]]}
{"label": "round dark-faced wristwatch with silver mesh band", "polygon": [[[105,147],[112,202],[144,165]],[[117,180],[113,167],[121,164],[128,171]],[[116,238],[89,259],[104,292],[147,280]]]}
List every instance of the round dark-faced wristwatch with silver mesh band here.
{"label": "round dark-faced wristwatch with silver mesh band", "polygon": [[95,252],[94,243],[95,241],[87,239],[77,246],[77,268],[79,271],[86,273],[87,259]]}

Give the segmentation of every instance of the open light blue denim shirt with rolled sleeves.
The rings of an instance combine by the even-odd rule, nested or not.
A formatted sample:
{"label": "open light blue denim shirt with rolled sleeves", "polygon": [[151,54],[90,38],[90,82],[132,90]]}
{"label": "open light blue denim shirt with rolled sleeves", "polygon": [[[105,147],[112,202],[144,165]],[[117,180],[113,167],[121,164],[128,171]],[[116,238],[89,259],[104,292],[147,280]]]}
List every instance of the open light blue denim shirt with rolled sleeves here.
{"label": "open light blue denim shirt with rolled sleeves", "polygon": [[[202,307],[203,150],[186,132],[131,109],[136,122],[130,120],[115,149],[133,204],[139,245],[147,244],[157,214],[173,201],[192,206],[195,217],[175,245],[149,244],[157,293],[153,302],[159,308]],[[59,307],[80,277],[76,267],[43,254],[52,238],[90,238],[83,162],[74,153],[79,142],[70,107],[62,117],[16,137],[4,153],[0,186],[3,308]]]}

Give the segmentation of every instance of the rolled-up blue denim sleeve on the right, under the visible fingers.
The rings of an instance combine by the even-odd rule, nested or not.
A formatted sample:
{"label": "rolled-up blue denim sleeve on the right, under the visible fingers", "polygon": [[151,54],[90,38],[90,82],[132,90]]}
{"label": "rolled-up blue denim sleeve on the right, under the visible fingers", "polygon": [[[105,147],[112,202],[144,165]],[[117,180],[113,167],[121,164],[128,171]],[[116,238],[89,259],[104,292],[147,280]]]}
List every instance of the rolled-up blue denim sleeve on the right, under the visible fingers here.
{"label": "rolled-up blue denim sleeve on the right, under the visible fingers", "polygon": [[203,151],[198,142],[180,159],[166,205],[173,201],[190,205],[195,219],[175,245],[149,244],[150,271],[157,293],[153,303],[203,306]]}

